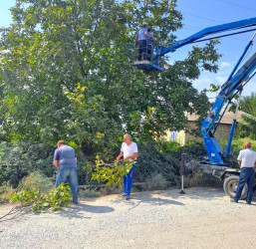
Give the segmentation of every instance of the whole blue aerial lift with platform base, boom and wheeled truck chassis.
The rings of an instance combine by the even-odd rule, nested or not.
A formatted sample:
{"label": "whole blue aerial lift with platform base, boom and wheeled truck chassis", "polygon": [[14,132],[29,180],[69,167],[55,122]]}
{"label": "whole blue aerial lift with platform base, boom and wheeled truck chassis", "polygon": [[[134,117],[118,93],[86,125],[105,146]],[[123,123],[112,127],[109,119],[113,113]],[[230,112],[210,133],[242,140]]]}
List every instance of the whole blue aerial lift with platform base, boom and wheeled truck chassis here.
{"label": "whole blue aerial lift with platform base, boom and wheeled truck chassis", "polygon": [[[226,37],[236,34],[241,34],[245,32],[255,31],[256,27],[256,18],[245,19],[237,22],[222,24],[213,26],[210,28],[205,28],[196,34],[181,40],[177,41],[171,46],[157,46],[155,48],[155,56],[153,62],[148,61],[136,61],[134,62],[134,67],[139,70],[145,71],[164,71],[160,66],[160,58],[166,55],[169,52],[174,52],[176,49],[181,48],[187,44],[202,42],[206,40],[216,39],[220,37]],[[249,28],[249,29],[248,29]],[[239,29],[239,31],[237,31]],[[240,29],[243,29],[242,31]],[[210,36],[213,34],[217,34],[220,32],[232,31],[232,33],[211,37],[208,39],[202,39],[206,36]],[[237,169],[231,168],[232,165],[229,162],[229,152],[231,148],[232,138],[234,134],[236,118],[233,120],[233,124],[231,126],[228,145],[226,151],[222,151],[218,141],[214,137],[214,133],[216,132],[218,125],[223,118],[225,112],[231,101],[242,93],[243,87],[255,76],[256,74],[256,53],[254,53],[247,62],[238,70],[242,60],[245,58],[247,51],[253,44],[253,39],[255,38],[256,32],[253,37],[247,44],[244,52],[242,53],[240,59],[232,70],[230,76],[227,81],[221,87],[220,93],[218,94],[215,103],[213,104],[208,116],[206,119],[201,120],[201,133],[205,143],[205,148],[207,151],[207,160],[201,161],[201,168],[206,169],[205,171],[212,171],[212,174],[215,176],[219,176],[222,180],[224,180],[224,190],[230,196],[234,196],[238,176],[240,171]],[[226,105],[226,106],[225,106]],[[221,111],[224,108],[224,112],[220,115]],[[238,105],[236,112],[238,110]],[[236,115],[235,115],[236,117]],[[242,196],[246,193],[246,189],[244,189]]]}

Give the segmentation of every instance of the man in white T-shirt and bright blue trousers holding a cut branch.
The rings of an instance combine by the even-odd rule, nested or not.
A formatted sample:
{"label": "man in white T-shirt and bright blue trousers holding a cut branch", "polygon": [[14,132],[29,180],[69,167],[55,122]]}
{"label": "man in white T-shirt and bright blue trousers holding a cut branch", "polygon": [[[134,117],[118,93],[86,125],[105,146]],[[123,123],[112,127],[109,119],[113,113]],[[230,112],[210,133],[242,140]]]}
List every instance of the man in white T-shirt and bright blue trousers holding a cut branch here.
{"label": "man in white T-shirt and bright blue trousers holding a cut branch", "polygon": [[129,134],[124,135],[124,142],[122,143],[121,152],[119,156],[117,157],[117,160],[120,160],[122,156],[124,156],[124,160],[130,160],[133,159],[134,163],[129,170],[127,175],[124,175],[124,196],[126,196],[126,199],[130,199],[130,188],[132,184],[132,178],[135,170],[136,165],[136,158],[138,156],[137,152],[137,145],[134,141],[131,141],[131,137]]}

